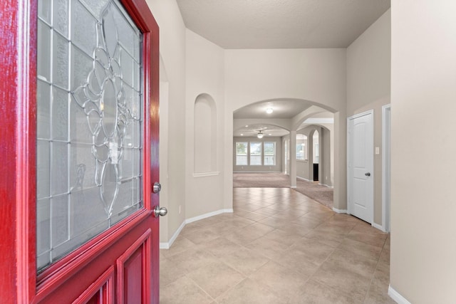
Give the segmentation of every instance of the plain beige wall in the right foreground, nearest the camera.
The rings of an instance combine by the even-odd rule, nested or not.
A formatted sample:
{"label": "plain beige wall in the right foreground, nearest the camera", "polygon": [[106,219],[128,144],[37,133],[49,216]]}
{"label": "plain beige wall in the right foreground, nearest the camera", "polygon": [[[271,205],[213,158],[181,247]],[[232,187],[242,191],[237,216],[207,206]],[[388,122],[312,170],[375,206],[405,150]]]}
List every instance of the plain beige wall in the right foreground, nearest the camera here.
{"label": "plain beige wall in the right foreground, nearest the camera", "polygon": [[455,303],[456,2],[391,6],[390,285]]}

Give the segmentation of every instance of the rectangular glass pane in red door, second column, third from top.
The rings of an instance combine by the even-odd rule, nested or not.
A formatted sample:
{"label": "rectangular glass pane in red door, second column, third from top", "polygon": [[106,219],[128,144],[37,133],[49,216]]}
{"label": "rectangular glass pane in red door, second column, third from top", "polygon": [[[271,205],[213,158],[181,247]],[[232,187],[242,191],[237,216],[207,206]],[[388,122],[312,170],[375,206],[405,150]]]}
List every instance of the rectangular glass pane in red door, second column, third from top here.
{"label": "rectangular glass pane in red door, second column, third from top", "polygon": [[52,138],[68,141],[68,92],[53,88]]}

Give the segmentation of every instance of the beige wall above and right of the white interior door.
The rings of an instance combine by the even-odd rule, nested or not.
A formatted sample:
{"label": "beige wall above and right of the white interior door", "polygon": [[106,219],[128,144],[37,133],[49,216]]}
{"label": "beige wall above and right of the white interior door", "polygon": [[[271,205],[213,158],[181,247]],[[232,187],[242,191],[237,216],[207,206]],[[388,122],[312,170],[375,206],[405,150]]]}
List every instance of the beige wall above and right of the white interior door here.
{"label": "beige wall above and right of the white interior door", "polygon": [[[382,146],[382,106],[390,103],[391,12],[347,48],[347,116],[374,110],[374,146]],[[392,109],[394,112],[394,109]],[[374,154],[374,223],[382,224],[382,155]]]}

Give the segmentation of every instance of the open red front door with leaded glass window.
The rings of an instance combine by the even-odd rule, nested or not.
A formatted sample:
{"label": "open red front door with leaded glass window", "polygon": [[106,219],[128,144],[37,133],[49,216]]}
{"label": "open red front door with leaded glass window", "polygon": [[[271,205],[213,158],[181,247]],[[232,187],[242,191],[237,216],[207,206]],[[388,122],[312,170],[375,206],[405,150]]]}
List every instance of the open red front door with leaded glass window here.
{"label": "open red front door with leaded glass window", "polygon": [[6,0],[0,22],[0,303],[158,303],[145,0]]}

